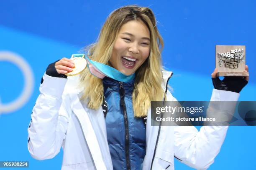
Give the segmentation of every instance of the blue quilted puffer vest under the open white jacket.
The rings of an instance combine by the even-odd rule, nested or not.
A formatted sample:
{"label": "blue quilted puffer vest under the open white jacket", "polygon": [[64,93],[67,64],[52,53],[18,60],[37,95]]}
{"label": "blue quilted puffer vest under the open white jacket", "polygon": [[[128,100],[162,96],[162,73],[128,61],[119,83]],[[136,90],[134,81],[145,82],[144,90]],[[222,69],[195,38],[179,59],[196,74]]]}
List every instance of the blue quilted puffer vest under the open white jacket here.
{"label": "blue quilted puffer vest under the open white jacket", "polygon": [[134,80],[125,83],[109,77],[103,79],[108,103],[107,137],[114,170],[140,170],[146,154],[146,128],[143,119],[133,113],[133,85]]}

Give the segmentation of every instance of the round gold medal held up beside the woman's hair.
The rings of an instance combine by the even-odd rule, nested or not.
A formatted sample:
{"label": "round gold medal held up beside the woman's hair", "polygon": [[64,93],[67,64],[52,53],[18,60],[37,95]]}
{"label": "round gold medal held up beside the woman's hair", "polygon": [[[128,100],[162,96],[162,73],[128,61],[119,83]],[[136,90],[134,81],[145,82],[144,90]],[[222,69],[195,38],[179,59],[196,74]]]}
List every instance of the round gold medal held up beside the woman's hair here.
{"label": "round gold medal held up beside the woman's hair", "polygon": [[72,72],[68,72],[65,75],[67,76],[78,75],[86,68],[87,62],[84,58],[84,54],[73,54],[70,60],[74,62],[75,67],[73,68]]}

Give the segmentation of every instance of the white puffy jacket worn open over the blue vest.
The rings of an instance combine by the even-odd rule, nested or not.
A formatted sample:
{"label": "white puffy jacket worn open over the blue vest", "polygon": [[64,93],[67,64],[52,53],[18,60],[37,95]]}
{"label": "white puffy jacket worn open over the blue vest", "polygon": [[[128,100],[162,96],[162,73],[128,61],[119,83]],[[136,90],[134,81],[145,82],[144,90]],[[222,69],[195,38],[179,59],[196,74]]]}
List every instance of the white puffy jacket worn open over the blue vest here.
{"label": "white puffy jacket worn open over the blue vest", "polygon": [[[163,72],[166,88],[172,72]],[[28,150],[37,160],[54,158],[63,148],[61,170],[112,170],[102,107],[91,110],[79,100],[78,77],[43,76],[28,128]],[[211,100],[238,100],[239,94],[213,89]],[[167,91],[167,100],[176,100]],[[151,169],[159,126],[146,124],[143,170]],[[228,126],[161,126],[152,170],[174,170],[174,155],[196,169],[207,169],[220,152]]]}

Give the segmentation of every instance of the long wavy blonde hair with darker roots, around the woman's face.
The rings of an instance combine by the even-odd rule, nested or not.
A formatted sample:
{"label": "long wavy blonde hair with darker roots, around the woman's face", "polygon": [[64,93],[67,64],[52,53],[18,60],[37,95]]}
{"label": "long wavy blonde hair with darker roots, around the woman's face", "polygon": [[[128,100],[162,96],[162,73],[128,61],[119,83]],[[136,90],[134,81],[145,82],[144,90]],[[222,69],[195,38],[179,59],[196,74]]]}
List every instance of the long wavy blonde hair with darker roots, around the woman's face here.
{"label": "long wavy blonde hair with darker roots, around the woman's face", "polygon": [[[87,55],[94,61],[109,65],[115,39],[125,23],[141,20],[150,31],[150,55],[136,71],[132,94],[135,117],[147,115],[152,100],[163,100],[165,92],[161,88],[161,51],[163,40],[156,27],[156,19],[148,7],[128,5],[114,10],[102,26],[96,43],[87,47]],[[83,88],[81,100],[90,109],[98,109],[102,105],[104,91],[102,79],[90,74],[86,69],[80,76],[79,86]]]}

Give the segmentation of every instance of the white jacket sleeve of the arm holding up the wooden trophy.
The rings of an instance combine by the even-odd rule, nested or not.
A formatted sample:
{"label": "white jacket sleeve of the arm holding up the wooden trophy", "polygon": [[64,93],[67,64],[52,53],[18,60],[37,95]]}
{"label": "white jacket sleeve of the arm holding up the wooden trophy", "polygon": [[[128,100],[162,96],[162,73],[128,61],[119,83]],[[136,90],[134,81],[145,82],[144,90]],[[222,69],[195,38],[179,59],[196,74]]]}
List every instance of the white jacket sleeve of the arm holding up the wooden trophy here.
{"label": "white jacket sleeve of the arm holding up the wooden trophy", "polygon": [[[236,101],[239,93],[213,89],[211,101]],[[232,110],[233,108],[230,108]],[[205,170],[220,152],[228,126],[194,126],[174,128],[174,156],[188,166]]]}

